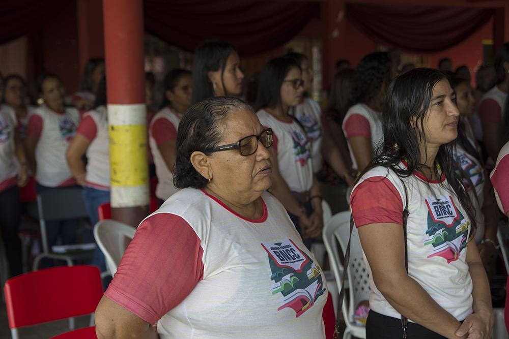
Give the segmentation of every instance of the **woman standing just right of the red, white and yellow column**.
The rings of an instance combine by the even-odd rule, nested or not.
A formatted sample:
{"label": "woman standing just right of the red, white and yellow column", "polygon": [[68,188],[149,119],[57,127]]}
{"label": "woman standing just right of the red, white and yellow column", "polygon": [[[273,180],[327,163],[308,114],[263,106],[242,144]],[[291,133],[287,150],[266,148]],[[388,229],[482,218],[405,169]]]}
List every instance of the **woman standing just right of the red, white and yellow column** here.
{"label": "woman standing just right of the red, white and yellow column", "polygon": [[149,144],[158,178],[156,197],[159,204],[177,192],[173,172],[177,157],[176,140],[179,122],[191,105],[191,72],[169,71],[164,77],[164,100],[149,126]]}

